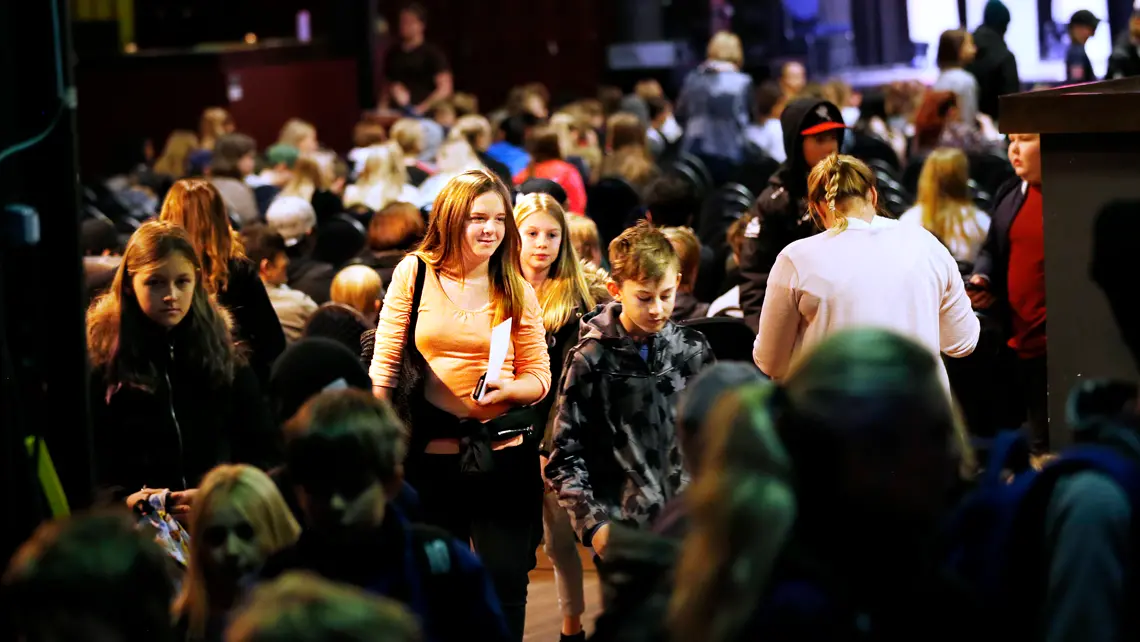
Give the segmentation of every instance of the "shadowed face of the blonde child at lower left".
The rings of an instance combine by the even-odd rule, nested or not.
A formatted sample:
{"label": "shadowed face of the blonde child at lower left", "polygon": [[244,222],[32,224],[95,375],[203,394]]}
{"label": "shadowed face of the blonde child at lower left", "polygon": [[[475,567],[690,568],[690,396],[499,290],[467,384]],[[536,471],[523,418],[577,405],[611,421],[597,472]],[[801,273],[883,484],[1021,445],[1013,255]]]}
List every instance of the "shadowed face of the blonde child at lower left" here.
{"label": "shadowed face of the blonde child at lower left", "polygon": [[202,526],[203,570],[212,584],[236,585],[261,568],[266,556],[250,520],[233,503],[218,504]]}

